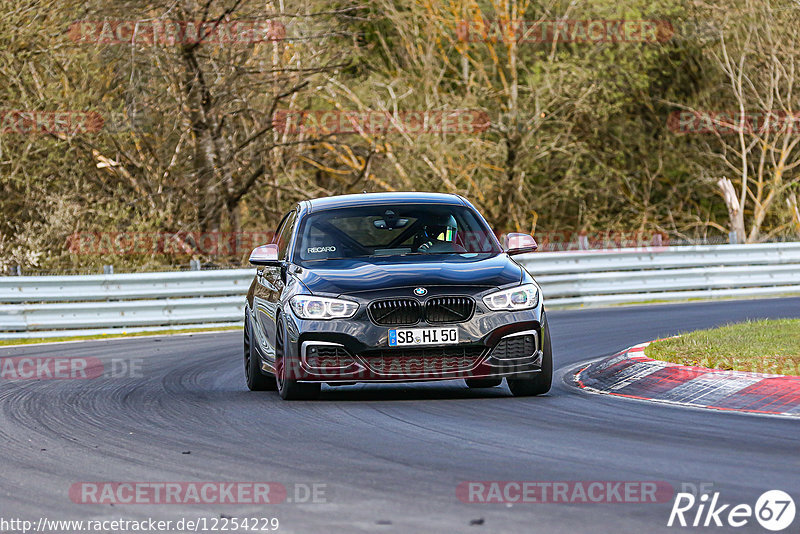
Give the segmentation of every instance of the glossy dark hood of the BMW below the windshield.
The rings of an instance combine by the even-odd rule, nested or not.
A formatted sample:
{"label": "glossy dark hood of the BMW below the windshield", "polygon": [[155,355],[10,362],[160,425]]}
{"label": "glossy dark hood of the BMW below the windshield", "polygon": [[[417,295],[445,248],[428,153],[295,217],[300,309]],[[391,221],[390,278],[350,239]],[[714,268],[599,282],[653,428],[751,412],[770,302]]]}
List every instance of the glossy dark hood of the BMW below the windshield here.
{"label": "glossy dark hood of the BMW below the windshield", "polygon": [[294,275],[312,293],[341,295],[416,286],[501,287],[519,283],[522,269],[506,254],[454,254],[329,260]]}

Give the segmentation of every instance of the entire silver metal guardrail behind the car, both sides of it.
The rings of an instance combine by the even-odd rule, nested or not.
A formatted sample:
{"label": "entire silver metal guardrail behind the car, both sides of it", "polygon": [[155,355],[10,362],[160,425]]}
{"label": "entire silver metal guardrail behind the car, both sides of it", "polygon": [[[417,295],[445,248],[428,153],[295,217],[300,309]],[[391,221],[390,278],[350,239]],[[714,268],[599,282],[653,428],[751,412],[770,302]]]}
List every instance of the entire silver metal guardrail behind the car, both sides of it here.
{"label": "entire silver metal guardrail behind the car, both sides of it", "polygon": [[[800,243],[519,257],[547,306],[800,294]],[[0,339],[241,324],[253,269],[0,277]]]}

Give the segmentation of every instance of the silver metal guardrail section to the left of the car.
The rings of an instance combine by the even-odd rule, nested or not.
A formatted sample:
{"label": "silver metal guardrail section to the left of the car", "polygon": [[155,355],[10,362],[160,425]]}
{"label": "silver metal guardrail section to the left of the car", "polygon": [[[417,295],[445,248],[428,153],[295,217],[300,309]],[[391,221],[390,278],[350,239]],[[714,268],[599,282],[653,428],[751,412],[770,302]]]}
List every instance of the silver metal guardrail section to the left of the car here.
{"label": "silver metal guardrail section to the left of the car", "polygon": [[0,277],[0,339],[236,326],[254,272]]}

